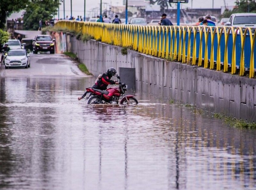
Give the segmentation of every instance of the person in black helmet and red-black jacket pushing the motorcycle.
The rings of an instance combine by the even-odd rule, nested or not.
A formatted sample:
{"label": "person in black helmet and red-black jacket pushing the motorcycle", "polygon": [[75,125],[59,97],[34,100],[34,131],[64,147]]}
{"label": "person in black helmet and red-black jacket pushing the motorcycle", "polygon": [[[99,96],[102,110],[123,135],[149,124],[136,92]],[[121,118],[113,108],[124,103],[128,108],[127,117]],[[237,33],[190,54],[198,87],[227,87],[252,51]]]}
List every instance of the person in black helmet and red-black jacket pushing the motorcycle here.
{"label": "person in black helmet and red-black jacket pushing the motorcycle", "polygon": [[[116,76],[116,69],[113,67],[108,68],[107,72],[104,72],[99,80],[92,86],[92,88],[99,89],[99,90],[106,90],[109,84],[119,84],[116,80],[111,80],[112,76]],[[87,91],[84,92],[84,95],[78,97],[78,100],[84,98],[87,94]]]}

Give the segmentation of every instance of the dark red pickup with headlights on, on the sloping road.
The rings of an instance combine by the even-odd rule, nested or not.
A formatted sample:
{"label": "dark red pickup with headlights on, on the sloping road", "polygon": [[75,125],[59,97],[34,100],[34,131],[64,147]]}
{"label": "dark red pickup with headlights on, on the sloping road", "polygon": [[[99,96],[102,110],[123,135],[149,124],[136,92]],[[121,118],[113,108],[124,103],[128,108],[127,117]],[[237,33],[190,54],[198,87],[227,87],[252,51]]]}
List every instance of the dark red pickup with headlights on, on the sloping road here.
{"label": "dark red pickup with headlights on, on the sloping road", "polygon": [[37,35],[33,40],[33,52],[37,54],[38,51],[50,51],[54,53],[54,42],[50,35]]}

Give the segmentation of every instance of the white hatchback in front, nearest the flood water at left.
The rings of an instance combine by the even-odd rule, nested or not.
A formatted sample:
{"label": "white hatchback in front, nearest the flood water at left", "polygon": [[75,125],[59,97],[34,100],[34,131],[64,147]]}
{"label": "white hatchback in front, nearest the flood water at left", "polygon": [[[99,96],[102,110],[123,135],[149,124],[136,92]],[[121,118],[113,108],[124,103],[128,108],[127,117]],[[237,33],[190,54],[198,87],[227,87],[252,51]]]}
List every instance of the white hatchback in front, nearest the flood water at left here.
{"label": "white hatchback in front, nearest the flood water at left", "polygon": [[30,56],[26,49],[11,49],[4,59],[5,69],[9,67],[30,67]]}

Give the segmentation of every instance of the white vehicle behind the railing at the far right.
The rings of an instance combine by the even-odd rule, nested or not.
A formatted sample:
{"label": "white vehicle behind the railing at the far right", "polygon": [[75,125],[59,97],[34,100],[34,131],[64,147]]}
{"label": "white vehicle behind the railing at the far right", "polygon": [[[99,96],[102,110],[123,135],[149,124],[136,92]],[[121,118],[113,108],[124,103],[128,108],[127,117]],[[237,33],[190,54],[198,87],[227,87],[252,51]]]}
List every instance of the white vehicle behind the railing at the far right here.
{"label": "white vehicle behind the railing at the far right", "polygon": [[235,13],[229,17],[225,26],[256,27],[256,13]]}

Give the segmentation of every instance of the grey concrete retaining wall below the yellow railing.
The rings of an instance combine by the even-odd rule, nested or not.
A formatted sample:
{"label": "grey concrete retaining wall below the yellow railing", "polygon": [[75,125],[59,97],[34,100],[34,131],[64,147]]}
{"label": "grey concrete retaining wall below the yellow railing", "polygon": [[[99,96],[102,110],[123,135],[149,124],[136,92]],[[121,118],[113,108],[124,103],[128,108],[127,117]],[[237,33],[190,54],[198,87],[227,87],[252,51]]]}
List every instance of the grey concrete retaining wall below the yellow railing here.
{"label": "grey concrete retaining wall below the yellow railing", "polygon": [[109,67],[135,68],[140,91],[213,112],[256,121],[256,80],[148,56],[121,47],[67,36],[67,49],[77,55],[95,76]]}

